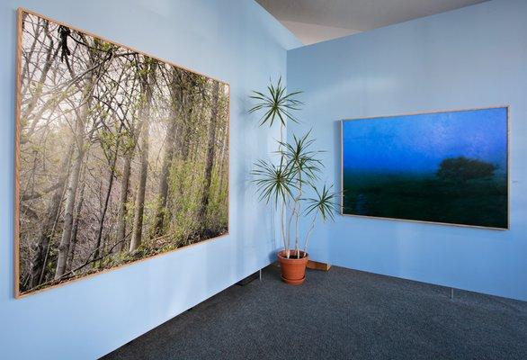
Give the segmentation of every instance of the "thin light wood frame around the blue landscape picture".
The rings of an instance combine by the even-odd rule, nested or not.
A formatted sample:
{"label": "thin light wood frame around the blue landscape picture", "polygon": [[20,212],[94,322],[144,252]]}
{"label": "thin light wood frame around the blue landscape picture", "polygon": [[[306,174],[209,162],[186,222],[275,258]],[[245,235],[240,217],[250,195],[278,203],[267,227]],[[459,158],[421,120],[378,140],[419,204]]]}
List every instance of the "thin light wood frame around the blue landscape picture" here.
{"label": "thin light wood frame around the blue landscape picture", "polygon": [[[369,215],[357,215],[357,214],[347,214],[344,213],[344,121],[358,121],[358,120],[377,120],[377,119],[389,119],[389,118],[398,118],[401,116],[414,116],[414,115],[428,115],[428,114],[434,114],[434,113],[445,113],[445,112],[471,112],[471,111],[478,111],[478,110],[489,110],[489,109],[506,109],[507,112],[507,159],[506,159],[506,166],[507,166],[507,226],[506,228],[494,228],[494,227],[486,227],[486,226],[479,226],[479,225],[467,225],[467,224],[456,224],[451,222],[440,222],[440,221],[426,221],[426,220],[412,220],[412,219],[397,219],[397,218],[388,218],[388,217],[381,217],[381,216],[369,216]],[[510,229],[511,224],[511,156],[510,156],[510,147],[511,147],[511,137],[510,137],[510,130],[511,130],[511,116],[510,116],[510,106],[509,105],[503,105],[503,106],[488,106],[488,107],[481,107],[481,108],[472,108],[472,109],[454,109],[454,110],[438,110],[433,112],[410,112],[410,113],[402,113],[397,115],[388,115],[388,116],[373,116],[373,117],[364,117],[364,118],[354,118],[354,119],[342,119],[340,121],[340,145],[341,145],[341,161],[340,161],[340,182],[341,182],[341,206],[340,206],[340,214],[342,216],[349,216],[349,217],[357,217],[357,218],[366,218],[366,219],[379,219],[379,220],[397,220],[397,221],[409,221],[409,222],[417,222],[417,223],[425,223],[425,224],[435,224],[435,225],[445,225],[445,226],[457,226],[462,228],[472,228],[472,229],[492,229],[492,230],[501,230],[505,231]]]}

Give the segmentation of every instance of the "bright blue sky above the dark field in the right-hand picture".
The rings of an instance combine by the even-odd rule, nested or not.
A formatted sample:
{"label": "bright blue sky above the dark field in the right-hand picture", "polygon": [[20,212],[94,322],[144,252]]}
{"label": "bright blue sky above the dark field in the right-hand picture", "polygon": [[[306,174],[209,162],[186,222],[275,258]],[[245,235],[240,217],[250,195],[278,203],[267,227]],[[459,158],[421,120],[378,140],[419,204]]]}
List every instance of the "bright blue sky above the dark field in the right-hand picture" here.
{"label": "bright blue sky above the dark field in the right-hand picture", "polygon": [[506,171],[507,109],[438,112],[343,122],[344,170],[431,173],[446,157]]}

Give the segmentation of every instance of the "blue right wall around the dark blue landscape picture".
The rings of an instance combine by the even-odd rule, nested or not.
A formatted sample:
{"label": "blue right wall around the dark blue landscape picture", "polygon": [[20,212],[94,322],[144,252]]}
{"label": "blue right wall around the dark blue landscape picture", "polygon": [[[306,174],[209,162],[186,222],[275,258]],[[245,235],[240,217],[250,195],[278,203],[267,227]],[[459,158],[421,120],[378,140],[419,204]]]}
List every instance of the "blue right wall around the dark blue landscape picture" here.
{"label": "blue right wall around the dark blue landscape picture", "polygon": [[526,19],[527,1],[494,0],[288,52],[288,87],[307,103],[288,134],[314,129],[337,188],[340,119],[511,106],[510,230],[339,216],[311,257],[527,300]]}

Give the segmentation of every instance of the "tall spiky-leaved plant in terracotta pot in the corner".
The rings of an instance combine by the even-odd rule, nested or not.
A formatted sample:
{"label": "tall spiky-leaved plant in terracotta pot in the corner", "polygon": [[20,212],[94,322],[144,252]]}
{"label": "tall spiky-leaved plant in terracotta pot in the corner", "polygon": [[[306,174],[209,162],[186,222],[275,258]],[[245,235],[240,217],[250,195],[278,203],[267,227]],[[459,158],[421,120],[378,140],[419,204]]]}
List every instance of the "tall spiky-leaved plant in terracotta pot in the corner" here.
{"label": "tall spiky-leaved plant in terracotta pot in the corner", "polygon": [[[280,123],[274,161],[256,161],[252,175],[260,200],[272,203],[280,216],[283,249],[278,252],[278,260],[281,278],[287,284],[304,282],[309,237],[318,220],[333,220],[335,215],[333,185],[317,184],[324,165],[317,157],[322,151],[314,148],[311,131],[299,137],[293,134],[290,141],[283,138],[287,121],[299,122],[294,116],[302,105],[297,98],[299,94],[287,94],[280,78],[266,92],[253,92],[250,97],[255,105],[249,110],[249,113],[262,113],[260,126]],[[301,217],[309,219],[305,231],[299,227]]]}

